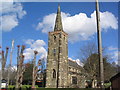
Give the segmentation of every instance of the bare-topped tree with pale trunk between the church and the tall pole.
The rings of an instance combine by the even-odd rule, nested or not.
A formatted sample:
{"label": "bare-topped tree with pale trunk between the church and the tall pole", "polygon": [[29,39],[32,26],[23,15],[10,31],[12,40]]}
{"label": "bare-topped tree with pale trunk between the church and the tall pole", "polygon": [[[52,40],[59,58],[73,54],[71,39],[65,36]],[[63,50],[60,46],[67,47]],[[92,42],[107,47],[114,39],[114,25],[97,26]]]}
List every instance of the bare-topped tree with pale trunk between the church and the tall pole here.
{"label": "bare-topped tree with pale trunk between the church and the tall pole", "polygon": [[95,43],[88,42],[80,48],[80,60],[84,63],[87,78],[92,80],[92,87],[96,88],[99,76],[99,57]]}

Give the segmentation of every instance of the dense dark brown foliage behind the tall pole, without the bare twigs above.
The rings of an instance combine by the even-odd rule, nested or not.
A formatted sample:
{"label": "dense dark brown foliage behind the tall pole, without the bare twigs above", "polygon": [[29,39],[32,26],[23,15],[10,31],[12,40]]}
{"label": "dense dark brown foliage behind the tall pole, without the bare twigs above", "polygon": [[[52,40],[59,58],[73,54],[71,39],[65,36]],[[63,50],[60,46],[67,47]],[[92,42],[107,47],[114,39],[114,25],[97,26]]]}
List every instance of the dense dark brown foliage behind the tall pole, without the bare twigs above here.
{"label": "dense dark brown foliage behind the tall pole, without the bare twigs above", "polygon": [[[114,74],[116,74],[117,68],[108,62],[107,58],[103,58],[104,64],[104,78],[105,81],[109,80]],[[89,78],[99,80],[99,59],[98,54],[92,54],[84,65],[84,69],[89,73]]]}

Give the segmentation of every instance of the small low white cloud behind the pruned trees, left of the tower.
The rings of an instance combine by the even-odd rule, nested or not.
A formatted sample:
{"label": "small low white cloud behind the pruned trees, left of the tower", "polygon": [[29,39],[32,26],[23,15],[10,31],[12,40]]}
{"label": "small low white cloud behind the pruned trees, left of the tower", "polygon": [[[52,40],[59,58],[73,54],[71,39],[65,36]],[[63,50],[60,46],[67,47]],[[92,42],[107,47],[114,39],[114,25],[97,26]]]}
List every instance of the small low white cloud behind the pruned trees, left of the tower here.
{"label": "small low white cloud behind the pruned trees, left of the tower", "polygon": [[38,51],[40,58],[47,58],[46,43],[43,40],[28,39],[25,43],[29,45],[29,48],[26,48],[24,52],[26,60],[33,59],[35,50]]}

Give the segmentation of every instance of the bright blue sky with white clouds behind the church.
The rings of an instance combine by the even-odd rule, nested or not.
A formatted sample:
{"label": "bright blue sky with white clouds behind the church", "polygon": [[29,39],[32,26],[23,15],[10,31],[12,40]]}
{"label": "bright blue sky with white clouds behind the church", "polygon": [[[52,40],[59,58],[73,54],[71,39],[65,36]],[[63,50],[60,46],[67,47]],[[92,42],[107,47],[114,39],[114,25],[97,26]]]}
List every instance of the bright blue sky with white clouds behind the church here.
{"label": "bright blue sky with white clouds behind the church", "polygon": [[[118,3],[100,2],[102,46],[110,62],[118,60]],[[97,44],[95,2],[60,2],[63,29],[68,33],[68,57],[79,61],[79,49],[88,42]],[[17,45],[25,45],[25,62],[47,58],[48,32],[53,31],[58,2],[5,2],[0,4],[2,49],[11,49],[14,39],[13,65]],[[9,50],[10,52],[10,50]],[[9,63],[10,53],[8,54]]]}

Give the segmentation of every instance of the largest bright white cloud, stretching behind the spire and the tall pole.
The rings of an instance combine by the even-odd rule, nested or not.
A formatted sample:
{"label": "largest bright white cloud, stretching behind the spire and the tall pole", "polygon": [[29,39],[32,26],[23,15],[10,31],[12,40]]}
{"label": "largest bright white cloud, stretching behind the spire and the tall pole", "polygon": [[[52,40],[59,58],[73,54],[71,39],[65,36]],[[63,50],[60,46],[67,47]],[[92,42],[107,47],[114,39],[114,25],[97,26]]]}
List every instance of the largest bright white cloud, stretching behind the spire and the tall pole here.
{"label": "largest bright white cloud, stretching behind the spire and the tall pole", "polygon": [[[117,18],[111,12],[100,12],[101,28],[107,31],[108,28],[118,29]],[[42,30],[43,33],[53,31],[56,14],[46,15],[42,22],[39,22],[36,29]],[[90,17],[85,13],[79,13],[71,16],[69,13],[62,12],[62,22],[64,31],[69,34],[69,40],[75,42],[78,40],[88,40],[96,33],[96,12]]]}

